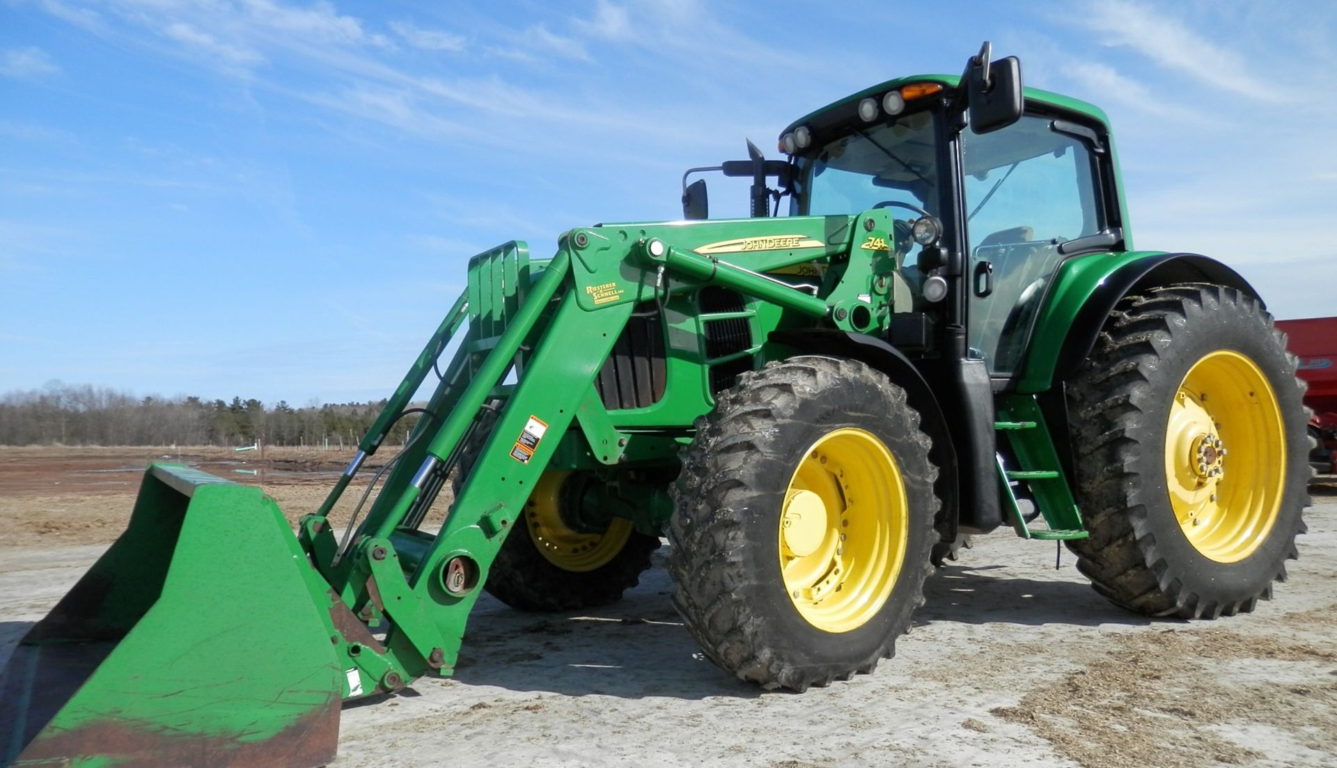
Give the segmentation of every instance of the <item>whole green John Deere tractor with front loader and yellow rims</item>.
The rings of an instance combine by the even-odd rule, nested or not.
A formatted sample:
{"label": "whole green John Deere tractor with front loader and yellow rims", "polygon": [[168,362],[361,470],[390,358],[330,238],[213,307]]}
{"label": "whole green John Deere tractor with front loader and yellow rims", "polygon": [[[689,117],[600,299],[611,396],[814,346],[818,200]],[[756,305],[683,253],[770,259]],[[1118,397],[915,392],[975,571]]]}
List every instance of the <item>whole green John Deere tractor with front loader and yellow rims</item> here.
{"label": "whole green John Deere tractor with front loader and yellow rims", "polygon": [[693,169],[750,178],[750,218],[709,219],[695,181],[686,221],[469,260],[295,535],[255,488],[151,466],[15,650],[0,763],[325,763],[341,702],[452,673],[480,590],[614,601],[660,537],[689,632],[765,688],[870,672],[931,561],[1004,524],[1146,614],[1269,598],[1308,503],[1282,336],[1227,266],[1134,250],[1103,112],[989,59],[812,112],[786,159]]}

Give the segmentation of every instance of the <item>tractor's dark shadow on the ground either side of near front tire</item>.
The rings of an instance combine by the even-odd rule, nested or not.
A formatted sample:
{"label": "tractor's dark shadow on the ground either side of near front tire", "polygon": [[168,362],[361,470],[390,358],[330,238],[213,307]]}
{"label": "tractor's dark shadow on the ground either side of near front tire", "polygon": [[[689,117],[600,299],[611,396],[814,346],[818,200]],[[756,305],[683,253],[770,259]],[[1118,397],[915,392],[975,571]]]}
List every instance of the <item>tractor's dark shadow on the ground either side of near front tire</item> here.
{"label": "tractor's dark shadow on the ground either side of near front tire", "polygon": [[[662,562],[663,550],[655,554],[655,565]],[[1146,626],[1163,621],[1106,601],[1071,565],[1052,581],[1009,574],[1015,570],[1004,566],[940,569],[925,585],[927,603],[916,611],[915,625],[951,632],[953,623]],[[671,591],[667,571],[654,567],[622,601],[580,613],[523,613],[484,594],[469,617],[455,680],[566,696],[762,696],[755,685],[702,656],[673,607]]]}

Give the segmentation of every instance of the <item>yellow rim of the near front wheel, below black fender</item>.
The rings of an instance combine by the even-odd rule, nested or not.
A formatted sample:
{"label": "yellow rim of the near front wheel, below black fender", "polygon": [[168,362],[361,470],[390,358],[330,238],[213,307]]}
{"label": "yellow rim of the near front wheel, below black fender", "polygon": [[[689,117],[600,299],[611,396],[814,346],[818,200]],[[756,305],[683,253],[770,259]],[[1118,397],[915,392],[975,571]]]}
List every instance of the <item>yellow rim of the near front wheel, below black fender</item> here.
{"label": "yellow rim of the near front wheel, below black fender", "polygon": [[870,432],[841,428],[813,443],[789,480],[779,570],[808,623],[840,633],[881,610],[909,541],[905,482]]}

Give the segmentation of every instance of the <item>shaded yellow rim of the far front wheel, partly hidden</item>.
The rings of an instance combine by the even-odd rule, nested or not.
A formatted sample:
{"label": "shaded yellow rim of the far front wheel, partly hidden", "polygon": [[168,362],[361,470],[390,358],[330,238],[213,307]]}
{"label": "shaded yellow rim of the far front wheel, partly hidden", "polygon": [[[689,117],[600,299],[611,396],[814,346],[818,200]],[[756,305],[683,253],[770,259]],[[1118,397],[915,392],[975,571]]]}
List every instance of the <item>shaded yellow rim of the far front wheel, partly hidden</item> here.
{"label": "shaded yellow rim of the far front wheel, partly hidden", "polygon": [[571,472],[544,472],[524,504],[529,539],[544,559],[568,571],[592,571],[622,551],[631,520],[614,518],[602,534],[582,534],[562,519],[562,484]]}

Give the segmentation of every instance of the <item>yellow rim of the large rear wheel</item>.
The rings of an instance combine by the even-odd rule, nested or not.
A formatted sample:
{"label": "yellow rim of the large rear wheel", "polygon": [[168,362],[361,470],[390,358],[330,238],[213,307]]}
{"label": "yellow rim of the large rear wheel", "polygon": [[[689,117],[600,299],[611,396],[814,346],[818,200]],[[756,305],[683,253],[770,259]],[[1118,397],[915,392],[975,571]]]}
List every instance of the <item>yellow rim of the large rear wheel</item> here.
{"label": "yellow rim of the large rear wheel", "polygon": [[1258,365],[1226,349],[1185,375],[1166,429],[1166,486],[1183,535],[1222,563],[1267,538],[1286,476],[1281,407]]}

